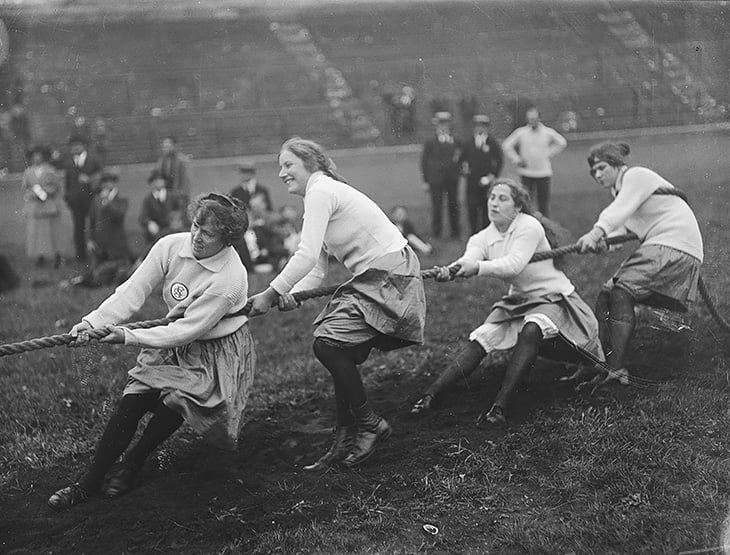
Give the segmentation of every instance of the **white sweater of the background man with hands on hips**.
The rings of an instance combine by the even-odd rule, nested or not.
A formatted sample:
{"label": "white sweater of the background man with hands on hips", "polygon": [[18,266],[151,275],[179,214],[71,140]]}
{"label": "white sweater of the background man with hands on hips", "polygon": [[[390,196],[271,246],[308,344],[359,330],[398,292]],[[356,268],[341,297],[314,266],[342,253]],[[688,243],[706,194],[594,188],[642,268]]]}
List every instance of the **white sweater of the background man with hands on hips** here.
{"label": "white sweater of the background man with hands on hips", "polygon": [[[502,149],[514,164],[518,164],[518,175],[550,177],[553,175],[550,159],[567,145],[568,141],[555,129],[539,123],[536,129],[524,125],[512,131],[502,143]],[[523,164],[519,165],[520,162]]]}

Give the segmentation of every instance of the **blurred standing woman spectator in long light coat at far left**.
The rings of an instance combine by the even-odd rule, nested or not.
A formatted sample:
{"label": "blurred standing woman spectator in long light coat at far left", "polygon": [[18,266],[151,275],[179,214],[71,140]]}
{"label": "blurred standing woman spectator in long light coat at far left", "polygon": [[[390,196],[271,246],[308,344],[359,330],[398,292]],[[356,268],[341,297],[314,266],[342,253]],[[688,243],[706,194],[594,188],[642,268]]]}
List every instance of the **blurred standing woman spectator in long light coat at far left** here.
{"label": "blurred standing woman spectator in long light coat at far left", "polygon": [[51,166],[51,151],[45,146],[34,146],[28,153],[28,169],[23,172],[21,188],[27,217],[25,253],[41,266],[46,258],[53,259],[54,267],[61,264],[59,223],[61,210],[58,196],[61,179]]}

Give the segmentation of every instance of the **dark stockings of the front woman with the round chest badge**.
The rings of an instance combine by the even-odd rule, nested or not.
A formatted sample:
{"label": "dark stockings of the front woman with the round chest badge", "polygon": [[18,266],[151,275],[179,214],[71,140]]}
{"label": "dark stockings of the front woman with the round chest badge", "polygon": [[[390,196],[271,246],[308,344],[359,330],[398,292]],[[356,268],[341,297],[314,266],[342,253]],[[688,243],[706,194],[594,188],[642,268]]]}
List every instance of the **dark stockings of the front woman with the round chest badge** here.
{"label": "dark stockings of the front woman with the round chest badge", "polygon": [[[147,412],[154,412],[155,415],[150,419],[144,435],[129,455],[132,457],[129,462],[134,463],[135,468],[141,467],[147,455],[165,441],[183,422],[182,416],[160,401],[157,391],[122,397],[119,407],[101,436],[91,467],[80,480],[83,489],[93,492],[101,487],[104,475],[129,446],[137,431],[139,421]],[[135,451],[136,453],[132,455]]]}

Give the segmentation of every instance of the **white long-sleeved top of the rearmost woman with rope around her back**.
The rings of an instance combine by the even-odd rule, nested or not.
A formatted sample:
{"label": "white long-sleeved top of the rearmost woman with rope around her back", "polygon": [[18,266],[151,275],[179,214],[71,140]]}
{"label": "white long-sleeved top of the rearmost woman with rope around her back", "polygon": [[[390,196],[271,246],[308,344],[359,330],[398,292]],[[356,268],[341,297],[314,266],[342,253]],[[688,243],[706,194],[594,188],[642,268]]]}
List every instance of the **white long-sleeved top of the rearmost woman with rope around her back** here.
{"label": "white long-sleeved top of the rearmost woman with rope around her back", "polygon": [[606,235],[633,231],[642,244],[672,247],[702,262],[702,234],[694,212],[679,197],[653,194],[660,187],[674,188],[649,168],[624,169],[611,188],[613,202],[595,225]]}

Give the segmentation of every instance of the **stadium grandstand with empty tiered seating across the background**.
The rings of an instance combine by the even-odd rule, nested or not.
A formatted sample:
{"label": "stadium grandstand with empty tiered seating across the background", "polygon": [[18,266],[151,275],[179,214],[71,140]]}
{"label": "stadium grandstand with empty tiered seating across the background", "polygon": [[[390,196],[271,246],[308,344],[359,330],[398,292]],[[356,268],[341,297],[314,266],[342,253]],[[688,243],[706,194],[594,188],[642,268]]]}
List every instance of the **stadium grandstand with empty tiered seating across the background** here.
{"label": "stadium grandstand with empty tiered seating across the background", "polygon": [[[109,163],[421,142],[436,109],[506,134],[728,119],[727,2],[0,2],[0,167],[103,121]],[[393,99],[411,95],[411,124]],[[401,106],[402,108],[402,106]],[[463,130],[463,128],[462,128]]]}

